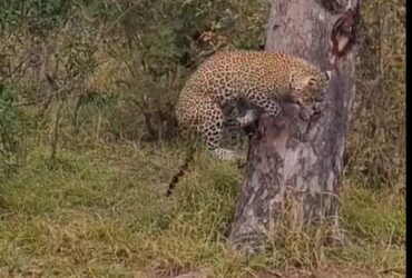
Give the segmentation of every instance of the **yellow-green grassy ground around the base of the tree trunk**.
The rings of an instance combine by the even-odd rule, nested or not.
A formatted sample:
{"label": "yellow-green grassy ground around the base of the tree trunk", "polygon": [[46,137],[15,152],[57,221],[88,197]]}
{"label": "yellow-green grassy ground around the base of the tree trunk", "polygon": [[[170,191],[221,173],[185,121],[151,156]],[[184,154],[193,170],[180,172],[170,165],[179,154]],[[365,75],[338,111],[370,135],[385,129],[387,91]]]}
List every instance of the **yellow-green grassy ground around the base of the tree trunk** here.
{"label": "yellow-green grassy ground around the base of the tree trunk", "polygon": [[18,175],[0,181],[0,277],[278,277],[275,269],[296,262],[367,274],[343,277],[404,276],[404,197],[393,189],[345,179],[343,248],[291,238],[248,259],[223,241],[242,179],[236,167],[200,155],[166,199],[183,158],[177,147],[75,145],[48,157],[39,143]]}

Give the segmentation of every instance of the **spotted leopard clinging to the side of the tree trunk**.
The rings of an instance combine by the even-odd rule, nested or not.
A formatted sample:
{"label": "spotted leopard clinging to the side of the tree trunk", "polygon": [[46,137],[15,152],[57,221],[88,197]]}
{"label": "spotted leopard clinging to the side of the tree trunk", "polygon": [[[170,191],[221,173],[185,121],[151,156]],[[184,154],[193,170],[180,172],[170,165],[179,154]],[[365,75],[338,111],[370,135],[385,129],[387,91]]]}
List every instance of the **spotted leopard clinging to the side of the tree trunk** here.
{"label": "spotted leopard clinging to the side of the tree trunk", "polygon": [[[321,96],[331,76],[330,70],[323,71],[285,51],[217,51],[198,66],[183,87],[175,108],[178,128],[184,138],[200,138],[218,159],[233,160],[235,151],[220,147],[225,127],[244,128],[261,115],[277,117],[282,99],[305,107]],[[244,116],[236,109],[241,101],[253,107]],[[167,195],[188,167],[192,155],[171,179]]]}

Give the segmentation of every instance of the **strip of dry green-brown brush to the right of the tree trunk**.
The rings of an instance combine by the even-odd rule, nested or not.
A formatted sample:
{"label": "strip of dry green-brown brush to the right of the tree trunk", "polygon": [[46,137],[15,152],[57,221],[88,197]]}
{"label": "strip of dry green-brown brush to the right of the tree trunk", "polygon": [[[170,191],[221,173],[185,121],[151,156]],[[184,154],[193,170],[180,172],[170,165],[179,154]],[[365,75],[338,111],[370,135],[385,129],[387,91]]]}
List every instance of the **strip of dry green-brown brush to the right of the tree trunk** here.
{"label": "strip of dry green-brown brush to the right of the tree trunk", "polygon": [[349,176],[396,186],[405,175],[404,1],[363,1]]}

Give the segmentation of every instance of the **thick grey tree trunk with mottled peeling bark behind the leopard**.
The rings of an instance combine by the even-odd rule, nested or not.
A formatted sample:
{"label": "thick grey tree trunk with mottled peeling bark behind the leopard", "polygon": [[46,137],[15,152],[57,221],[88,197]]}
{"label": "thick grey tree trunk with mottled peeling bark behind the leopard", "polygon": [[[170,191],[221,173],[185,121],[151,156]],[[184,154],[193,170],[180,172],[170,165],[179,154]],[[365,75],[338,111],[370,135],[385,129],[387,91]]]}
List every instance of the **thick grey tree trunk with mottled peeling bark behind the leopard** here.
{"label": "thick grey tree trunk with mottled peeling bark behind the leopard", "polygon": [[281,117],[259,119],[229,230],[233,244],[257,251],[285,221],[305,227],[327,220],[336,228],[355,93],[359,6],[360,0],[272,0],[266,50],[297,54],[321,69],[333,68],[333,75],[325,90],[326,109],[317,117],[303,121],[284,103]]}

